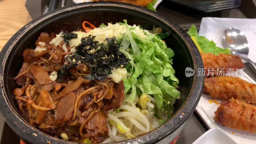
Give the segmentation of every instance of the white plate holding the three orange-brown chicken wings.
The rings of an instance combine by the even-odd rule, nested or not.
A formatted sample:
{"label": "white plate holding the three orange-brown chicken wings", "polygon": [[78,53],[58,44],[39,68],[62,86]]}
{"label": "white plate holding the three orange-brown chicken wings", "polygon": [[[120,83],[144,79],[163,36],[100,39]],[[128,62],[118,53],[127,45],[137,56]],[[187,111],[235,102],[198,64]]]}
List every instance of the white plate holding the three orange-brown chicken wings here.
{"label": "white plate holding the three orange-brown chicken wings", "polygon": [[[245,72],[243,72],[242,79],[256,84],[256,82],[248,76]],[[210,95],[202,94],[200,101],[196,107],[196,112],[204,121],[209,129],[212,128],[220,128],[224,132],[228,134],[233,140],[235,140],[239,144],[255,144],[256,143],[256,133],[250,133],[247,131],[231,129],[229,127],[222,126],[222,124],[215,122],[213,117],[215,116],[214,112],[220,105],[215,104],[212,100],[216,100],[219,104],[223,101],[227,101],[225,99],[217,99],[213,98]],[[212,103],[210,103],[210,100]]]}

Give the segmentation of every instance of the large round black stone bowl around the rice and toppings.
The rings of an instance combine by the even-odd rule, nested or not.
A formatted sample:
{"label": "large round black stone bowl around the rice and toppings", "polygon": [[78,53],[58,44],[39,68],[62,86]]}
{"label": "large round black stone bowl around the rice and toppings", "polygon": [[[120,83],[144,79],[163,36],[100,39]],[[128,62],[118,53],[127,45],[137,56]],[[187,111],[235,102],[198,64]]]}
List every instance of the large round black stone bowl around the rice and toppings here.
{"label": "large round black stone bowl around the rice and toppings", "polygon": [[[180,133],[195,110],[204,85],[204,77],[197,76],[197,69],[203,68],[203,62],[196,45],[178,25],[156,12],[131,4],[94,2],[63,7],[32,20],[14,34],[1,51],[0,112],[6,123],[22,140],[36,144],[72,143],[45,134],[30,125],[20,115],[13,94],[13,90],[17,87],[13,77],[17,76],[21,68],[23,50],[35,48],[35,42],[42,32],[59,33],[61,30],[77,30],[77,28],[82,28],[84,20],[98,27],[101,23],[123,22],[124,19],[128,21],[128,24],[141,25],[144,29],[150,30],[155,25],[163,28],[163,32],[171,32],[171,36],[165,38],[164,41],[175,53],[173,68],[180,81],[178,90],[181,94],[180,99],[174,104],[175,110],[172,117],[164,124],[151,132],[119,143],[170,143]],[[185,76],[187,67],[194,69],[194,76]]]}

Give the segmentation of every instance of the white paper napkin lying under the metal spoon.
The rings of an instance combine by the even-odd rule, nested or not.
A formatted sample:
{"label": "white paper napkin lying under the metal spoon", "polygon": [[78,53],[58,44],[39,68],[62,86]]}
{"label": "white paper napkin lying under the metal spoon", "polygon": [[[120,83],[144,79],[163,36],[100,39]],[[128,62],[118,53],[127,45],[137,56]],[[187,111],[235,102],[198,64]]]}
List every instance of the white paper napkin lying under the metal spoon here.
{"label": "white paper napkin lying under the metal spoon", "polygon": [[233,18],[202,18],[199,36],[205,36],[213,40],[218,47],[226,48],[223,36],[229,27],[236,27],[244,32],[249,43],[249,59],[256,62],[256,19],[233,19]]}

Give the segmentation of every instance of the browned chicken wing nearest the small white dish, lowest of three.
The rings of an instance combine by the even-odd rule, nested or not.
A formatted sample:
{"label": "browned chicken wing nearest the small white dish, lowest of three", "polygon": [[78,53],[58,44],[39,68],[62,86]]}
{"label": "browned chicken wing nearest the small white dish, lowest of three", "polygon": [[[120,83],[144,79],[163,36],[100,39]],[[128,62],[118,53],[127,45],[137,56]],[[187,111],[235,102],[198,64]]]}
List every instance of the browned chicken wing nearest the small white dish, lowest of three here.
{"label": "browned chicken wing nearest the small white dish, lowest of three", "polygon": [[215,119],[223,126],[256,133],[256,106],[241,100],[222,102],[215,111]]}

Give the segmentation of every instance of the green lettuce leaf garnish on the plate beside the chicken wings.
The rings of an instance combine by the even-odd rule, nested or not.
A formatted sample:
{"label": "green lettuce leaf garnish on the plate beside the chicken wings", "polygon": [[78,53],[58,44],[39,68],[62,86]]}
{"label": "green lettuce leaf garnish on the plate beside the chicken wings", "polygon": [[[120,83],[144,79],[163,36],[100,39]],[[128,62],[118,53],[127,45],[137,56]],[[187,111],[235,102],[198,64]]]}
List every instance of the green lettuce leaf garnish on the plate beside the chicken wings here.
{"label": "green lettuce leaf garnish on the plate beside the chicken wings", "polygon": [[196,26],[192,25],[190,29],[187,32],[190,36],[195,36],[196,41],[200,45],[201,49],[203,50],[204,53],[213,53],[215,55],[220,54],[220,53],[225,53],[225,54],[230,54],[230,50],[228,48],[222,49],[218,46],[213,41],[208,40],[204,36],[199,36],[196,30]]}

